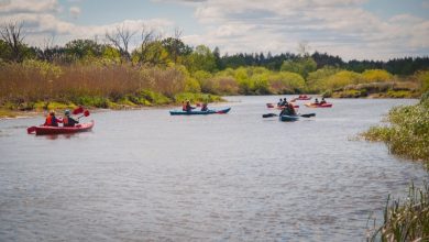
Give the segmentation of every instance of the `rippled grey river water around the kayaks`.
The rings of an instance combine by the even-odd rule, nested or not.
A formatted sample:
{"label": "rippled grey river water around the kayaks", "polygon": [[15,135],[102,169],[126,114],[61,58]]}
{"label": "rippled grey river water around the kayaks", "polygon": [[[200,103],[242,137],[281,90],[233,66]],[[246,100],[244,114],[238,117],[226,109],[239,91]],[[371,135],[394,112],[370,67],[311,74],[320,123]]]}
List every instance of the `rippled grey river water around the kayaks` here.
{"label": "rippled grey river water around the kayaks", "polygon": [[356,140],[416,100],[334,99],[297,122],[279,97],[227,97],[228,114],[94,112],[91,132],[35,136],[0,121],[0,241],[364,241],[422,165]]}

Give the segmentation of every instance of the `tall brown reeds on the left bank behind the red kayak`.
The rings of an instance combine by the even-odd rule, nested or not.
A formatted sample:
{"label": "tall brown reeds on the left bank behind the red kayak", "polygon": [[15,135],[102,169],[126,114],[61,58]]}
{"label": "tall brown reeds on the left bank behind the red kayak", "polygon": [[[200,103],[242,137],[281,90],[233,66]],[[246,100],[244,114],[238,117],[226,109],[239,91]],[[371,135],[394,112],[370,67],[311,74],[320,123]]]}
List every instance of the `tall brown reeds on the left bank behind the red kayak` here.
{"label": "tall brown reeds on the left bank behind the red kayak", "polygon": [[[138,96],[156,102],[184,91],[183,74],[175,68],[136,67],[128,64],[54,64],[30,61],[0,65],[0,105],[34,106],[38,101],[108,106]],[[148,95],[143,90],[155,94]],[[143,92],[142,92],[143,91]],[[148,100],[152,99],[152,100]],[[142,103],[144,101],[140,100]]]}

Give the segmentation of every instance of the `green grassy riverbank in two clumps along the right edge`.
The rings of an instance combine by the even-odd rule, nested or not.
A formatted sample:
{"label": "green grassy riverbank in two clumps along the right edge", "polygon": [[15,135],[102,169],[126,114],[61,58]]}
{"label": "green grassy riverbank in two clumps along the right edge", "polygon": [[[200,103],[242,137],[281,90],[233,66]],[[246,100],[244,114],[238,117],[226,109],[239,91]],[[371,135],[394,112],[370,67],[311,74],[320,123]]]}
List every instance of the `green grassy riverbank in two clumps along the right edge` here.
{"label": "green grassy riverbank in two clumps along the right edge", "polygon": [[[429,167],[429,92],[415,106],[397,107],[389,111],[388,125],[372,127],[362,135],[369,141],[383,141],[389,152],[418,160]],[[372,228],[369,241],[428,241],[429,187],[409,188],[404,200],[387,200],[384,221]]]}

